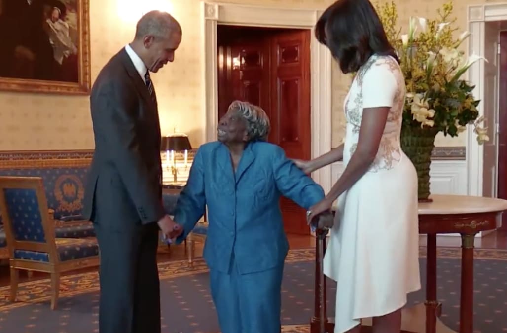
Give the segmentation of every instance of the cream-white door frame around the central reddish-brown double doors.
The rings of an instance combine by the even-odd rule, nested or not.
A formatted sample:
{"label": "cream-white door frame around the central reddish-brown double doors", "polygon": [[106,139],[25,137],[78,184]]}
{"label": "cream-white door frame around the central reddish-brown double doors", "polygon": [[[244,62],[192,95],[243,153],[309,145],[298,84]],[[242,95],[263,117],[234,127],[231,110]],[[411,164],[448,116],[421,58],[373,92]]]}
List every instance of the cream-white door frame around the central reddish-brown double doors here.
{"label": "cream-white door frame around the central reddish-brown double doors", "polygon": [[[201,2],[201,36],[203,62],[203,142],[216,140],[218,125],[218,24],[311,29],[322,11],[289,9],[238,4]],[[311,156],[316,158],[331,150],[331,62],[329,50],[317,42],[310,42],[310,114]],[[331,190],[331,165],[312,173],[325,193]]]}

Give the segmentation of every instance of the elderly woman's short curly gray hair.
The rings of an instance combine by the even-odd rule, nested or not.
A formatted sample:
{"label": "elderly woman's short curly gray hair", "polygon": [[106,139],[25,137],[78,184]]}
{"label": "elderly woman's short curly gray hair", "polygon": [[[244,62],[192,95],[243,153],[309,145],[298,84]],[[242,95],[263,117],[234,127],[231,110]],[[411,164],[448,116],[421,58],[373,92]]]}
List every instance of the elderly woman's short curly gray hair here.
{"label": "elderly woman's short curly gray hair", "polygon": [[246,120],[246,131],[250,141],[267,141],[271,125],[262,107],[235,100],[229,105],[228,110],[238,113]]}

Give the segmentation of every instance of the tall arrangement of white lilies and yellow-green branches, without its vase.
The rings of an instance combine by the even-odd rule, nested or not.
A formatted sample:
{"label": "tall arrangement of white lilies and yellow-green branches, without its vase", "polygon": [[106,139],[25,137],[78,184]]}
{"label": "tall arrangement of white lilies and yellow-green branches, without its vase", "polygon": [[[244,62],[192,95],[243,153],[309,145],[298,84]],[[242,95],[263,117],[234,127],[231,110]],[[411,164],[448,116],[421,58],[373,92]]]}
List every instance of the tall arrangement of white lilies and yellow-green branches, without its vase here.
{"label": "tall arrangement of white lilies and yellow-green branches, without its vase", "polygon": [[[477,55],[465,56],[460,45],[470,33],[454,38],[456,28],[451,18],[452,2],[438,9],[437,19],[411,17],[408,33],[397,27],[397,11],[393,2],[378,5],[377,12],[387,38],[397,50],[407,86],[402,130],[427,129],[436,135],[457,136],[467,124],[475,126],[479,144],[488,141],[487,128],[479,125],[479,100],[472,93],[474,86],[463,80],[463,73],[476,61]],[[486,60],[486,59],[484,59]]]}

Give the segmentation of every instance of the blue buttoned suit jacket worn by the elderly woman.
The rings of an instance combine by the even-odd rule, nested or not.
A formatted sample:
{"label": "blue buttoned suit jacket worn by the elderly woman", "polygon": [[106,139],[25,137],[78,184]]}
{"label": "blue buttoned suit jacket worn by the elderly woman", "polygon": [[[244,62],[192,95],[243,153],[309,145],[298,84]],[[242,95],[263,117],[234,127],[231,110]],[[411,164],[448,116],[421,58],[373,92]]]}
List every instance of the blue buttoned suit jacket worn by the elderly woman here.
{"label": "blue buttoned suit jacket worn by the elderly woman", "polygon": [[234,172],[228,148],[215,141],[197,151],[174,220],[183,225],[182,242],[208,207],[204,260],[210,269],[229,272],[231,258],[241,274],[281,265],[288,243],[280,196],[308,209],[324,198],[322,188],[277,145],[250,142]]}

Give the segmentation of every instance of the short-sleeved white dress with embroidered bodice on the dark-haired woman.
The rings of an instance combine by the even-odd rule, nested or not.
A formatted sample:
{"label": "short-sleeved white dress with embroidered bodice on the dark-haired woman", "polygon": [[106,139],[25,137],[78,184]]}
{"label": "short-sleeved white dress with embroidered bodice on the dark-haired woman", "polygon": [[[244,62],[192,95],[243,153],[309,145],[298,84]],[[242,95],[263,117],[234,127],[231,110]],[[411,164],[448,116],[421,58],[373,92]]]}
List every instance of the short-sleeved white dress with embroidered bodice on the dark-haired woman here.
{"label": "short-sleeved white dress with embroidered bodice on the dark-haired woman", "polygon": [[388,106],[390,111],[374,163],[338,199],[324,256],[324,274],[337,281],[335,333],[360,318],[403,307],[407,293],[421,287],[417,174],[400,145],[404,103],[400,65],[380,55],[361,66],[345,98],[345,165],[357,146],[364,109]]}

